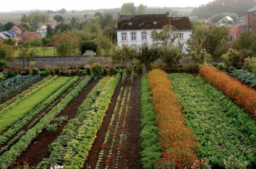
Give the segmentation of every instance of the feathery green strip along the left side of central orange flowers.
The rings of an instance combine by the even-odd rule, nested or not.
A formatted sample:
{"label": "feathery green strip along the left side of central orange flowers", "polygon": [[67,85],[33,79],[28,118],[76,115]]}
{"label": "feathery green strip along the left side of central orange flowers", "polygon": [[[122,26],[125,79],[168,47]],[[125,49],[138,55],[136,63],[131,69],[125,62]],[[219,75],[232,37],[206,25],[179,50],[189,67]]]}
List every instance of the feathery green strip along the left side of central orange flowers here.
{"label": "feathery green strip along the left side of central orange flowers", "polygon": [[147,74],[141,78],[141,163],[144,168],[153,168],[153,161],[160,160],[161,149],[157,145],[160,136],[156,125],[156,114],[151,103],[152,93],[150,91]]}

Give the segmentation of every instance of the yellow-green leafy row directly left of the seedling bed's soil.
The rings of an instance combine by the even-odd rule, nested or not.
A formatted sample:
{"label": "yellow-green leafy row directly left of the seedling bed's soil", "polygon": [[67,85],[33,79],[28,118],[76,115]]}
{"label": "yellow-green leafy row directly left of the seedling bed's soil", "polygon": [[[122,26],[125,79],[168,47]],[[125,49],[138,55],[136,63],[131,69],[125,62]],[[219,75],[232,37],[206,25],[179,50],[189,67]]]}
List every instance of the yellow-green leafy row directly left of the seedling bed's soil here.
{"label": "yellow-green leafy row directly left of the seedling bed's soil", "polygon": [[63,158],[63,163],[67,164],[67,168],[81,168],[84,161],[86,161],[120,77],[121,75],[118,73],[106,84],[98,99],[88,111],[88,113],[95,114],[91,124],[84,123],[78,129],[76,138],[68,143],[65,158]]}

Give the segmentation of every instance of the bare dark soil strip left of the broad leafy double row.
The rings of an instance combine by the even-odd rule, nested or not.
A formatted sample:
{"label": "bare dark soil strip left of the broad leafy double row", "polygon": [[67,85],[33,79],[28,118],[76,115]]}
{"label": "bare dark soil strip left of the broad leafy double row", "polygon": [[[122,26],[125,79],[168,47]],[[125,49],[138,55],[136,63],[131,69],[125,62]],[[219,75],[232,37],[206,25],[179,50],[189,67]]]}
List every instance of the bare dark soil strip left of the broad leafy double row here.
{"label": "bare dark soil strip left of the broad leafy double row", "polygon": [[[66,108],[61,111],[58,117],[60,116],[68,116],[68,120],[74,119],[76,116],[76,112],[78,107],[81,105],[84,99],[86,99],[87,94],[97,85],[98,80],[92,80],[86,86],[86,89],[82,90],[79,93],[79,96],[73,99]],[[54,132],[44,130],[40,133],[33,142],[28,146],[26,151],[20,154],[19,158],[21,160],[27,159],[29,163],[32,163],[36,166],[38,163],[42,161],[44,158],[48,158],[49,153],[49,145],[59,136],[62,129],[68,124],[68,121],[61,123],[60,127],[57,127],[57,130]]]}

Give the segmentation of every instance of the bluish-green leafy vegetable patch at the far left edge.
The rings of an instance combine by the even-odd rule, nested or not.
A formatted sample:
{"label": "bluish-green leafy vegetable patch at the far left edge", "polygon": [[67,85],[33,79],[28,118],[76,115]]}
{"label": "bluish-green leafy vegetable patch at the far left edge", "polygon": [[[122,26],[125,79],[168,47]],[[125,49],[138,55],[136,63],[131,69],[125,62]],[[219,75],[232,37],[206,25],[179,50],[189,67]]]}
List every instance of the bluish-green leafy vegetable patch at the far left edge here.
{"label": "bluish-green leafy vegetable patch at the far left edge", "polygon": [[0,100],[4,99],[5,97],[17,92],[19,89],[22,89],[25,86],[28,86],[30,83],[38,80],[40,75],[17,75],[13,78],[5,80],[0,83]]}

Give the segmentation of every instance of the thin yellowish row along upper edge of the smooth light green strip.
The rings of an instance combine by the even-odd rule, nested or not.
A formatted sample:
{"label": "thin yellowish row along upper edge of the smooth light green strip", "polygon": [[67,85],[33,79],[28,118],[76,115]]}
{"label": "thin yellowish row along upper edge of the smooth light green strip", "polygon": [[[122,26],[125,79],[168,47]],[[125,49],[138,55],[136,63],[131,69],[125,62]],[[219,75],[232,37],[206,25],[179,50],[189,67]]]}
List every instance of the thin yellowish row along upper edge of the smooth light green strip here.
{"label": "thin yellowish row along upper edge of the smooth light green strip", "polygon": [[40,90],[42,87],[45,87],[46,85],[48,85],[50,82],[52,82],[55,78],[57,78],[58,76],[55,75],[53,76],[51,79],[45,81],[44,83],[42,83],[41,85],[39,85],[37,88],[31,90],[30,92],[26,93],[22,98],[15,100],[13,103],[9,104],[8,106],[4,107],[1,111],[0,114],[5,114],[6,111],[8,109],[11,109],[12,107],[15,107],[16,104],[18,104],[20,101],[23,101],[24,99],[26,99],[26,97],[34,94],[36,91]]}

